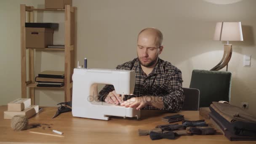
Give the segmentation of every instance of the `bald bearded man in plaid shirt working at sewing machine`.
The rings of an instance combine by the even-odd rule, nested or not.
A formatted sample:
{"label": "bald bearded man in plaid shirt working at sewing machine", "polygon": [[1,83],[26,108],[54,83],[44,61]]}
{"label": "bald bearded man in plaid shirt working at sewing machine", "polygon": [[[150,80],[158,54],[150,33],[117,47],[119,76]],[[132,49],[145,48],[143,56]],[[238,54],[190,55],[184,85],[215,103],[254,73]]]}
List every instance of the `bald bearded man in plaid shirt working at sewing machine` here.
{"label": "bald bearded man in plaid shirt working at sewing machine", "polygon": [[99,92],[99,100],[136,109],[179,111],[184,101],[181,71],[158,57],[163,52],[162,41],[160,30],[143,29],[138,35],[138,58],[116,67],[136,71],[136,97],[122,102],[113,85],[106,85]]}

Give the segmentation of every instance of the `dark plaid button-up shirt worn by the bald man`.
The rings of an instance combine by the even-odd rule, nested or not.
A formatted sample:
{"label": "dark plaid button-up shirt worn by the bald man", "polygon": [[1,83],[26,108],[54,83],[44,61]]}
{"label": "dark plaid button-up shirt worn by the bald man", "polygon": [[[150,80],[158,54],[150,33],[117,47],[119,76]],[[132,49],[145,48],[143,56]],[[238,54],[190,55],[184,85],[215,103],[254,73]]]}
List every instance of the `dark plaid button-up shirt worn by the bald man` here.
{"label": "dark plaid button-up shirt worn by the bald man", "polygon": [[[136,82],[133,94],[138,96],[162,96],[163,110],[179,111],[183,105],[184,93],[182,89],[181,71],[170,62],[158,59],[155,68],[149,75],[141,69],[139,59],[133,59],[124,64],[118,65],[116,69],[136,71]],[[99,92],[99,100],[104,98],[109,92],[114,91],[113,85],[106,85]],[[157,109],[146,106],[143,109]]]}

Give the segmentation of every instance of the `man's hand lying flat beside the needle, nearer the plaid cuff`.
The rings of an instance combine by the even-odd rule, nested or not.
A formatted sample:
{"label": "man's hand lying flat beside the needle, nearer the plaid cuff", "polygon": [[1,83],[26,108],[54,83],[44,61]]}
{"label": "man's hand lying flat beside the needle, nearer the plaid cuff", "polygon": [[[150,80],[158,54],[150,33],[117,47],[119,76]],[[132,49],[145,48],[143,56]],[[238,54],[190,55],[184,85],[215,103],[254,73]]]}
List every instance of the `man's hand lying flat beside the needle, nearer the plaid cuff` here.
{"label": "man's hand lying flat beside the needle, nearer the plaid cuff", "polygon": [[141,97],[128,99],[127,101],[124,101],[120,105],[125,107],[136,107],[136,109],[139,110],[149,105],[151,101],[152,101],[152,97],[141,96]]}

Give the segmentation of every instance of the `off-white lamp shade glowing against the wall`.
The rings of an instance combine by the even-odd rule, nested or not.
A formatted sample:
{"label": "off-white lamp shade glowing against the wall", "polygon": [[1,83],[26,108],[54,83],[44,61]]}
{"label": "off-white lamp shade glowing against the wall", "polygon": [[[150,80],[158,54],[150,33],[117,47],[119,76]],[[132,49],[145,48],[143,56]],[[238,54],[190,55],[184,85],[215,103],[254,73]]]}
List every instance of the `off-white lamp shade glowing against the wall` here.
{"label": "off-white lamp shade glowing against the wall", "polygon": [[217,22],[213,40],[243,41],[241,22]]}

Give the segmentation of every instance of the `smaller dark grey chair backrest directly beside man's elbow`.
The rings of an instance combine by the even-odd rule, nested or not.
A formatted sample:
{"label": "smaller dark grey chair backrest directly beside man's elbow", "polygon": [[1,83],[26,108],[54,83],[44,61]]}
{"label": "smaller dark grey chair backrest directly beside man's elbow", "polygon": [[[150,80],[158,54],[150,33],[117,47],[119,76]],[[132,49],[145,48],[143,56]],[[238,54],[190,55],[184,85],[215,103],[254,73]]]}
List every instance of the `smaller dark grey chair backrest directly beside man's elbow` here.
{"label": "smaller dark grey chair backrest directly beside man's elbow", "polygon": [[196,88],[183,88],[185,99],[181,110],[198,110],[200,91]]}

